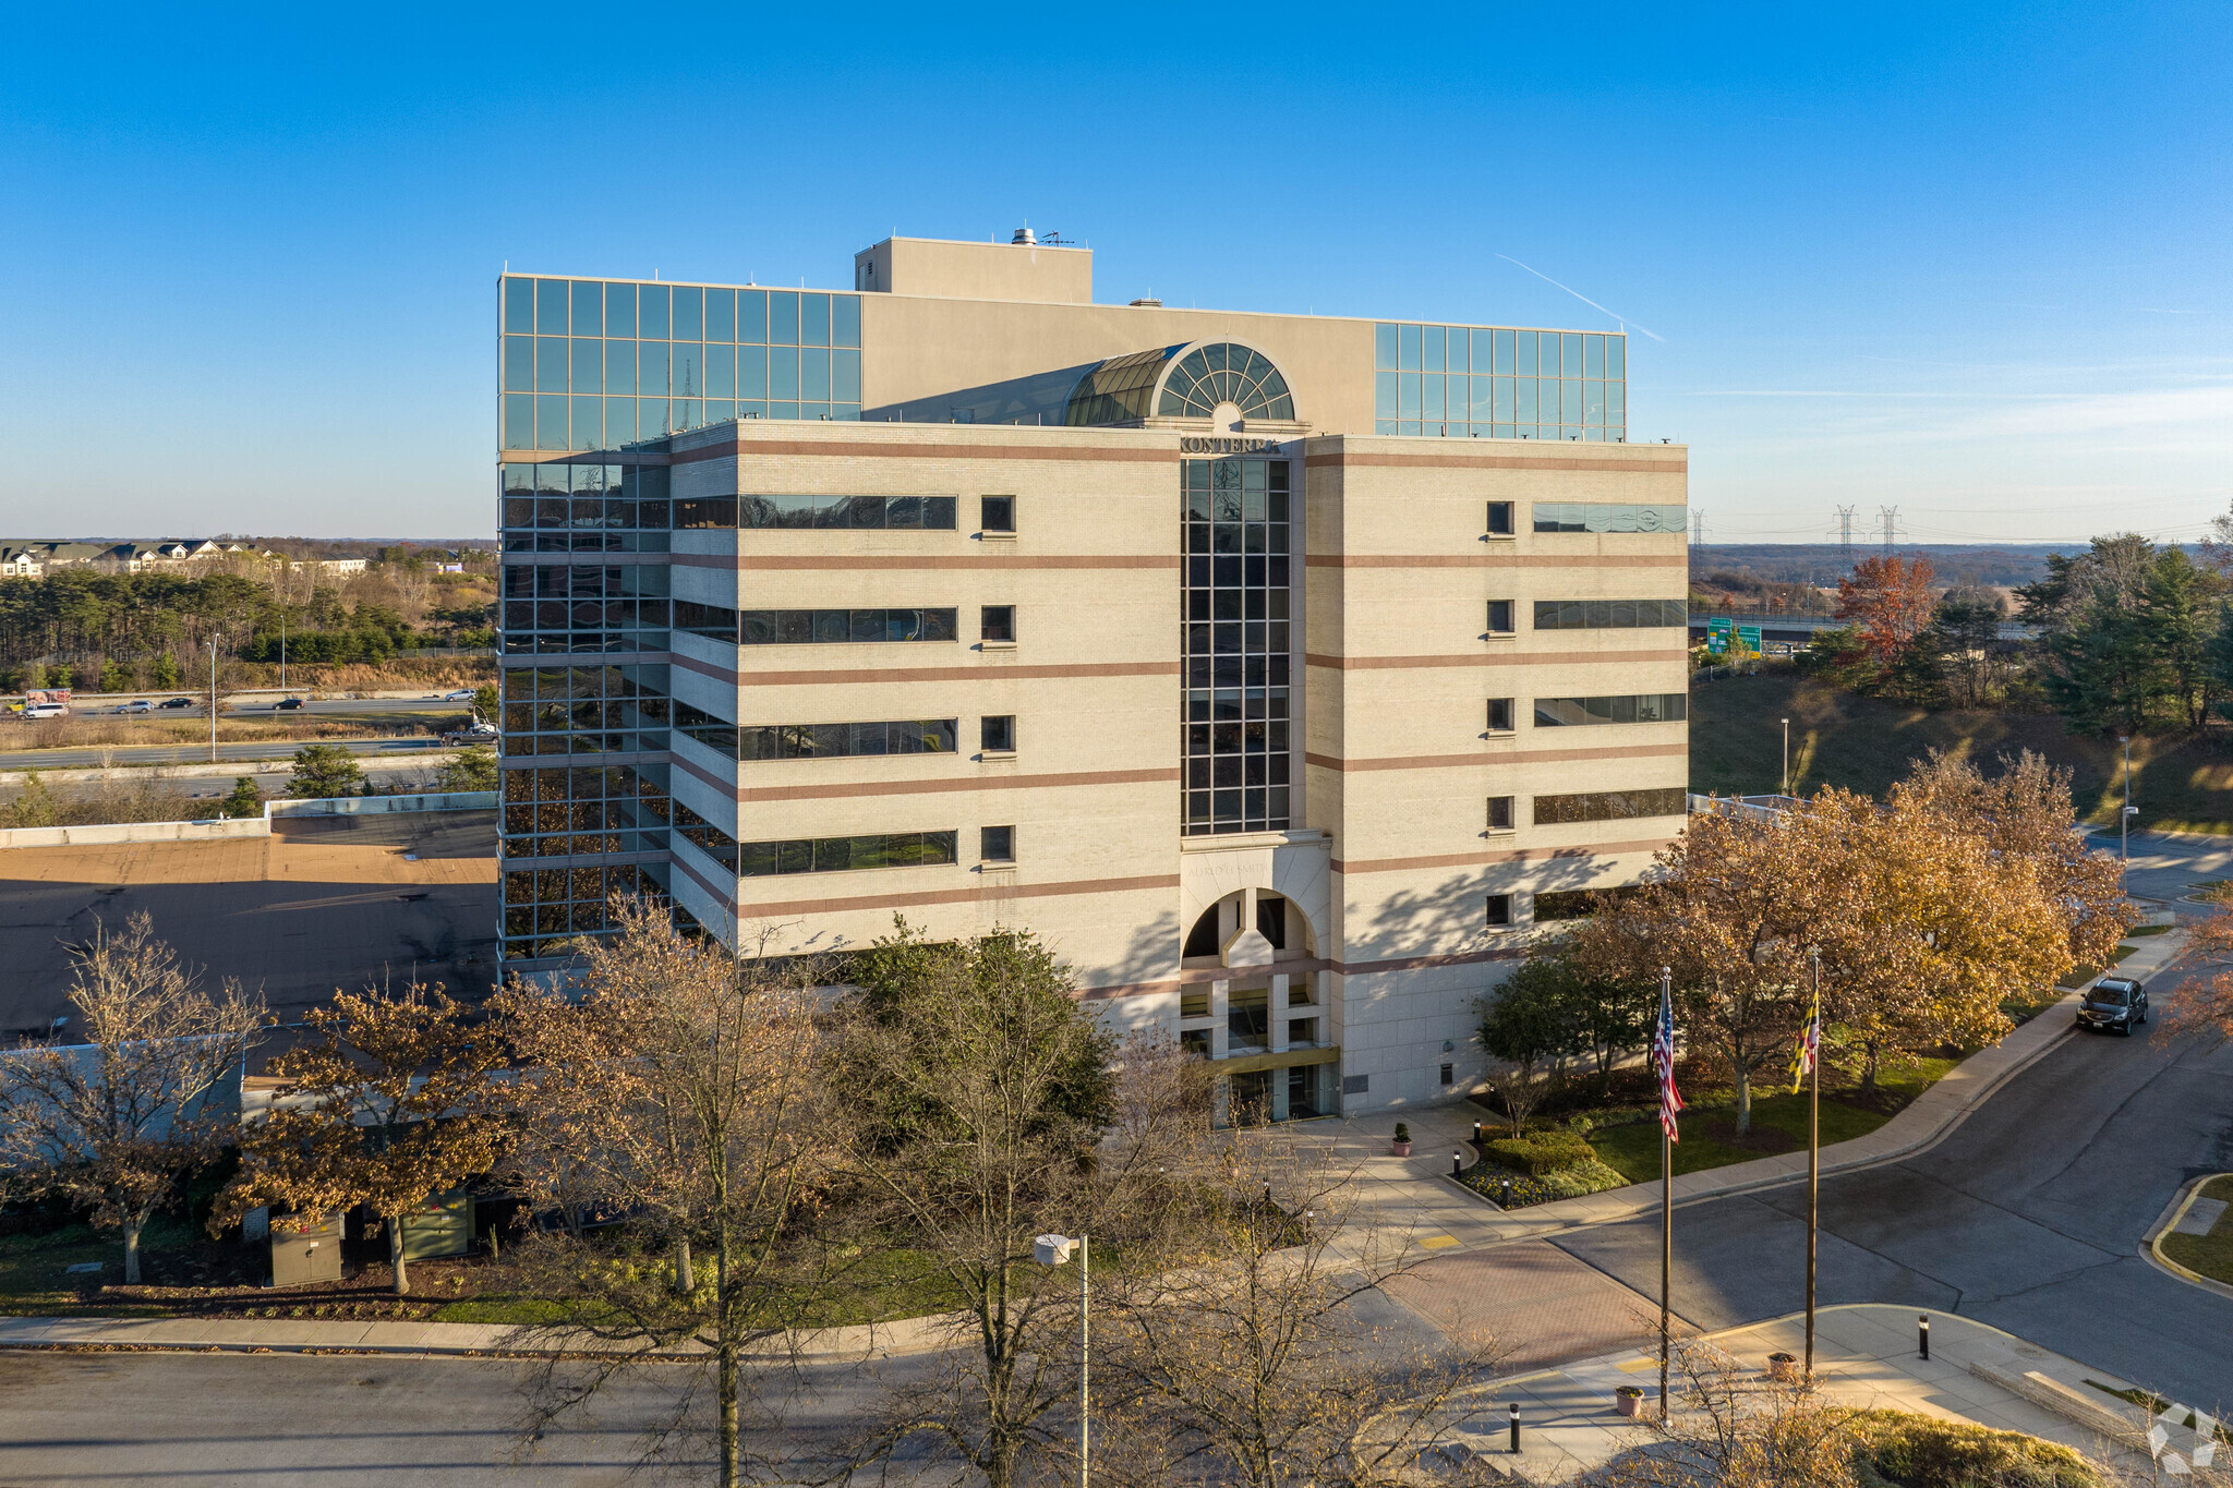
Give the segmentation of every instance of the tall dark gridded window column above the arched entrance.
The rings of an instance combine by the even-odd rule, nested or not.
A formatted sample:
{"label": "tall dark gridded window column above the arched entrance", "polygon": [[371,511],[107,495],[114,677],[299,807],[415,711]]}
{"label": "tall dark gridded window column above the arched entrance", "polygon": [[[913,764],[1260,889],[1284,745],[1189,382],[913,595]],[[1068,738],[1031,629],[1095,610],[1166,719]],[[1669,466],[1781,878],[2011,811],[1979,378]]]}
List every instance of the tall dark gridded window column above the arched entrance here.
{"label": "tall dark gridded window column above the arched entrance", "polygon": [[1288,462],[1188,460],[1181,484],[1186,832],[1284,830],[1293,767]]}

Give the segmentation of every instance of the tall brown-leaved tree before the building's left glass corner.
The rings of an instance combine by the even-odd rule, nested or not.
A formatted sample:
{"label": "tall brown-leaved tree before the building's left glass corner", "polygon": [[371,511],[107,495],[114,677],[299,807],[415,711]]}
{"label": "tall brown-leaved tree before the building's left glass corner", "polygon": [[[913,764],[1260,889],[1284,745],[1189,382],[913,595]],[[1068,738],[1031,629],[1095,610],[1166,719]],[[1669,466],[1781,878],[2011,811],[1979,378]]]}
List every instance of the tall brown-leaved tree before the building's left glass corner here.
{"label": "tall brown-leaved tree before the building's left glass corner", "polygon": [[[601,1345],[596,1363],[538,1370],[529,1434],[636,1356],[697,1350],[697,1383],[648,1457],[710,1383],[721,1484],[739,1484],[773,1466],[744,1450],[746,1412],[766,1414],[761,1379],[822,1301],[815,968],[686,939],[641,901],[610,912],[616,935],[581,953],[581,1002],[531,986],[498,997],[523,1060],[518,1173],[567,1216],[518,1252],[531,1289],[560,1301],[536,1332]],[[592,1211],[627,1223],[592,1229]],[[692,1274],[692,1245],[710,1278]]]}

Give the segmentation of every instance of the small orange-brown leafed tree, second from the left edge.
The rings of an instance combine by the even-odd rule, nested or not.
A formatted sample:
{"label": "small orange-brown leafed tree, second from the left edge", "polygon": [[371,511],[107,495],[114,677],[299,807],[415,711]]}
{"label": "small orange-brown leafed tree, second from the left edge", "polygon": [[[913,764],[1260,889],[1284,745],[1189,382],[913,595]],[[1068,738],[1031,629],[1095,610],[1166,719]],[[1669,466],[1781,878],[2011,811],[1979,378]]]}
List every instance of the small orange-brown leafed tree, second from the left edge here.
{"label": "small orange-brown leafed tree, second from the left edge", "polygon": [[284,1086],[261,1120],[241,1127],[241,1171],[210,1223],[257,1205],[315,1214],[362,1205],[386,1229],[395,1292],[406,1294],[402,1218],[487,1173],[502,1151],[505,1124],[491,1109],[502,1042],[422,982],[400,995],[335,993],[304,1024],[317,1042],[272,1060]]}

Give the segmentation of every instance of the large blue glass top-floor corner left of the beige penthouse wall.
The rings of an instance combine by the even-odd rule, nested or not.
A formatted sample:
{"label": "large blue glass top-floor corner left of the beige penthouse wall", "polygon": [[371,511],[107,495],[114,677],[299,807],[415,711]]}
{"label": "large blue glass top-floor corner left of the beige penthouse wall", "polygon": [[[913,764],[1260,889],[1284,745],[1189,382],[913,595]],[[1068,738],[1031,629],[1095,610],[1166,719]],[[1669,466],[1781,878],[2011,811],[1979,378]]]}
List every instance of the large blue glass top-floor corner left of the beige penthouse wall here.
{"label": "large blue glass top-floor corner left of the beige penthouse wall", "polygon": [[498,301],[505,448],[860,417],[860,294],[507,274]]}

